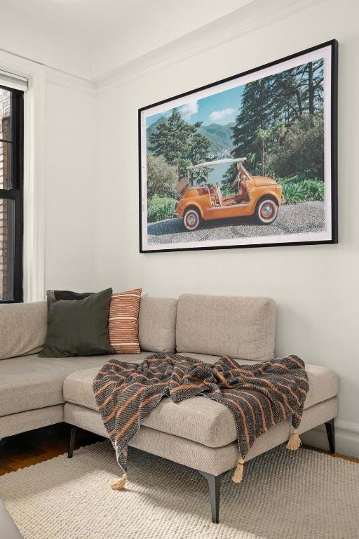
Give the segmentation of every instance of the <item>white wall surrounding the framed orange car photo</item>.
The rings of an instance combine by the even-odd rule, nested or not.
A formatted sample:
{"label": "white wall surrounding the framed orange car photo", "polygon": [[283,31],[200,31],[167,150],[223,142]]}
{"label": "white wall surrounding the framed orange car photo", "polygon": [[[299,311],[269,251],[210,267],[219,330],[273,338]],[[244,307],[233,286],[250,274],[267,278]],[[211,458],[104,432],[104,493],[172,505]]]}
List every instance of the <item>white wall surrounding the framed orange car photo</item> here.
{"label": "white wall surrounding the framed orange car photo", "polygon": [[[359,434],[358,17],[355,0],[316,2],[100,89],[95,248],[97,288],[274,298],[277,354],[298,354],[339,373],[339,451],[357,455],[359,437],[351,433]],[[339,41],[339,245],[140,254],[137,109],[332,38]]]}

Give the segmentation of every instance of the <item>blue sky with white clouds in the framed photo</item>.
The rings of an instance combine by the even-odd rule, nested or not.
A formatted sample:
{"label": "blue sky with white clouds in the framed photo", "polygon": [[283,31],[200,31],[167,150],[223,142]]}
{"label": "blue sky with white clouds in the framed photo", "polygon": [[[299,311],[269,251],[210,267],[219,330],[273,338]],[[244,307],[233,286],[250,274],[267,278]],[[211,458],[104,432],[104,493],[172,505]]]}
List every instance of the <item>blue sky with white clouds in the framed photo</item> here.
{"label": "blue sky with white clouds in the framed photo", "polygon": [[[178,108],[183,119],[188,121],[189,124],[202,121],[205,126],[210,124],[226,125],[236,119],[238,109],[242,105],[244,88],[245,85],[243,84],[198,100],[191,100],[191,95],[189,95],[189,102]],[[158,118],[169,117],[171,112],[172,108],[147,117],[146,127],[154,124]]]}

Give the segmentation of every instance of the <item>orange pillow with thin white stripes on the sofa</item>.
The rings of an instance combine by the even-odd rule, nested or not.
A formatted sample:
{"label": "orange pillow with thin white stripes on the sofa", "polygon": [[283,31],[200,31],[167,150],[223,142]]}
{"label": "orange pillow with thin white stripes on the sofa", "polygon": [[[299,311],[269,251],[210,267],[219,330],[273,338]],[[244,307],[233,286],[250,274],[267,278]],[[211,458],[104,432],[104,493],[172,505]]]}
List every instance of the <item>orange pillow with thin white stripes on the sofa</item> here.
{"label": "orange pillow with thin white stripes on the sofa", "polygon": [[142,288],[113,293],[109,306],[109,342],[116,354],[140,354],[138,313]]}

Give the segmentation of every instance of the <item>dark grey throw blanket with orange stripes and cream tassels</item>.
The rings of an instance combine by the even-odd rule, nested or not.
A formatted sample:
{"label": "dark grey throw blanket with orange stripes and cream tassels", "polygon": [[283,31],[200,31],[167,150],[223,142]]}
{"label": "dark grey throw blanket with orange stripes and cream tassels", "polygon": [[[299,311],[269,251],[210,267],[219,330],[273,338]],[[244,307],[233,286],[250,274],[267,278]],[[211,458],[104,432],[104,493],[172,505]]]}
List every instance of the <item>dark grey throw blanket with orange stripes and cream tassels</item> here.
{"label": "dark grey throw blanket with orange stripes and cream tassels", "polygon": [[93,380],[93,391],[124,472],[111,486],[123,488],[128,441],[162,397],[179,402],[203,395],[229,408],[236,422],[240,452],[233,481],[239,482],[253,442],[276,423],[292,418],[293,432],[287,447],[299,447],[296,429],[308,390],[304,361],[297,356],[252,365],[238,364],[229,356],[214,365],[178,354],[154,354],[141,364],[110,359]]}

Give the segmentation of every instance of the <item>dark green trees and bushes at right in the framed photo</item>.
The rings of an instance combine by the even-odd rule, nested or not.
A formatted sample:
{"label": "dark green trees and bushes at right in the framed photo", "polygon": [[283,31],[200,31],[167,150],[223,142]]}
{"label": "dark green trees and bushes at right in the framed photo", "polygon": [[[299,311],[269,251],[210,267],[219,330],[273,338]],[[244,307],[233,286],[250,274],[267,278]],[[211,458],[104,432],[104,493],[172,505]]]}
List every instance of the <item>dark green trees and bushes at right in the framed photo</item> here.
{"label": "dark green trees and bushes at right in the framed photo", "polygon": [[[302,159],[294,159],[292,145],[300,148],[315,141],[316,152],[323,154],[323,133],[318,126],[323,114],[323,59],[287,69],[245,85],[243,100],[233,131],[233,157],[246,157],[245,166],[255,175],[306,173],[323,180],[323,164],[313,166],[311,147],[302,147]],[[309,131],[313,131],[310,133]],[[299,133],[302,133],[299,135]],[[304,137],[304,134],[306,136]],[[298,150],[299,151],[299,150]],[[299,166],[300,164],[300,166]],[[222,183],[233,192],[236,166],[231,166]]]}

